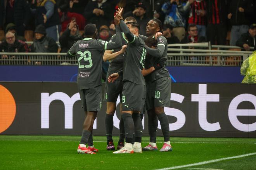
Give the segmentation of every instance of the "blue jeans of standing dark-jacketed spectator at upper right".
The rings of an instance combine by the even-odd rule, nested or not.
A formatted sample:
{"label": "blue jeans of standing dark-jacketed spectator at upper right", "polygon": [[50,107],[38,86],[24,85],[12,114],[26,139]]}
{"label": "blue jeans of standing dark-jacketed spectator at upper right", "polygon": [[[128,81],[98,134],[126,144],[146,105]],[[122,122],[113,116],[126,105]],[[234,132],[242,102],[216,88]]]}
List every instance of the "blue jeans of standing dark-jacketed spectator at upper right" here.
{"label": "blue jeans of standing dark-jacketed spectator at upper right", "polygon": [[240,38],[240,36],[246,33],[249,29],[247,25],[232,26],[230,34],[230,46],[235,46],[235,43]]}

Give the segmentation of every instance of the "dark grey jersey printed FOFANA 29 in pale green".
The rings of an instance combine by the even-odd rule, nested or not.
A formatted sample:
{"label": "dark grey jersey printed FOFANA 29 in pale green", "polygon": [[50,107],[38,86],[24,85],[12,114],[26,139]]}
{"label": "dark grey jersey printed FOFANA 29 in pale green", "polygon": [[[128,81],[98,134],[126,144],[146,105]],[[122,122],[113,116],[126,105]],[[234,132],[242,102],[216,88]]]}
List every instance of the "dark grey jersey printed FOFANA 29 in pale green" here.
{"label": "dark grey jersey printed FOFANA 29 in pale green", "polygon": [[85,38],[69,49],[68,53],[78,59],[77,83],[80,90],[101,85],[104,50],[121,46],[121,32],[118,34],[116,42]]}

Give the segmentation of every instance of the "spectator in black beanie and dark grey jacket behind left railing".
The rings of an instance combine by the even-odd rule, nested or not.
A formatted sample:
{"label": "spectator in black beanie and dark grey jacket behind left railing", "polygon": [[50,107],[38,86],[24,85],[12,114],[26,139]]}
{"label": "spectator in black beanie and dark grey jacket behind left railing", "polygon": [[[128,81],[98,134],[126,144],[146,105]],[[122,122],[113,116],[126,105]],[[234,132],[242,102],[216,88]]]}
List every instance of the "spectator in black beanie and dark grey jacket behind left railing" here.
{"label": "spectator in black beanie and dark grey jacket behind left railing", "polygon": [[54,39],[46,35],[46,29],[39,25],[35,29],[35,41],[31,45],[31,52],[35,53],[57,53],[58,46]]}

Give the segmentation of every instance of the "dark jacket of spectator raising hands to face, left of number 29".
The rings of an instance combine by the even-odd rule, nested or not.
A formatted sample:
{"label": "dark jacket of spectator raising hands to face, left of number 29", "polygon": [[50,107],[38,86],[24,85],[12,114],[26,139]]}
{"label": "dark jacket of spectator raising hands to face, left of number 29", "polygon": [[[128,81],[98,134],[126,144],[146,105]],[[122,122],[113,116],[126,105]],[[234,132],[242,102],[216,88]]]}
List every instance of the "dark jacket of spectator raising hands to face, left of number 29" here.
{"label": "dark jacket of spectator raising hands to face, left of number 29", "polygon": [[77,25],[76,34],[73,36],[70,34],[71,30],[68,29],[68,27],[69,24],[67,25],[67,29],[59,37],[59,42],[61,44],[61,53],[67,53],[67,51],[73,46],[73,44],[82,38]]}

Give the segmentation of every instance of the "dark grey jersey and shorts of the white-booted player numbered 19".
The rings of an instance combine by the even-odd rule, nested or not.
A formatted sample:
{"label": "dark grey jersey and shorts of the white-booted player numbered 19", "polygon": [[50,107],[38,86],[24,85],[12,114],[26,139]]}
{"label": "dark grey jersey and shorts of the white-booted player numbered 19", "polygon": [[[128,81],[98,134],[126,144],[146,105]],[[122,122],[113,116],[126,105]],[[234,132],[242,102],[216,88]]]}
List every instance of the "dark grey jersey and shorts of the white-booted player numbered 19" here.
{"label": "dark grey jersey and shorts of the white-booted player numbered 19", "polygon": [[140,111],[145,102],[145,79],[141,71],[144,68],[147,51],[143,39],[131,34],[124,24],[121,21],[120,27],[123,32],[126,30],[127,33],[125,35],[129,43],[124,54],[123,64],[123,111]]}

